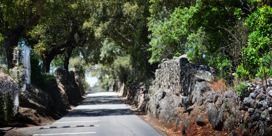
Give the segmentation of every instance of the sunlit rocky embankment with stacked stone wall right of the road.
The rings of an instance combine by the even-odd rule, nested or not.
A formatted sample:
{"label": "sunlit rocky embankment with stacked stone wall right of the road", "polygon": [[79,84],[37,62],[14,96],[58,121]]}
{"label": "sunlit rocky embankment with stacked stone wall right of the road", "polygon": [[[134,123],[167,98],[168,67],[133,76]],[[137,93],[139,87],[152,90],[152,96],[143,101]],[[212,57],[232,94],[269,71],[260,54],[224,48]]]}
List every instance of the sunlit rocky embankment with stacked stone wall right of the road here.
{"label": "sunlit rocky embankment with stacked stone wall right of the road", "polygon": [[180,135],[272,135],[272,79],[247,83],[241,97],[214,87],[214,75],[213,68],[182,55],[163,60],[154,85],[115,82],[110,91],[120,92]]}

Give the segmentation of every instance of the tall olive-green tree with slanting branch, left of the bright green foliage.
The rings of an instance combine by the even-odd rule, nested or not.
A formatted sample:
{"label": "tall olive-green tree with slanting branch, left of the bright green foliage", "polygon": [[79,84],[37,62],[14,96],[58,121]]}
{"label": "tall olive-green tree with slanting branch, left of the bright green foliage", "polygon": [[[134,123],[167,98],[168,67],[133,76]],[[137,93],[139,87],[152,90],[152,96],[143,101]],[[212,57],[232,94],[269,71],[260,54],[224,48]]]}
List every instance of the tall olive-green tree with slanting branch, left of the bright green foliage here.
{"label": "tall olive-green tree with slanting branch, left of the bright green foliage", "polygon": [[85,26],[94,26],[97,39],[107,39],[121,47],[123,54],[130,56],[135,76],[152,75],[153,67],[148,63],[150,52],[147,51],[150,34],[147,27],[149,2],[95,0],[90,3],[92,18]]}

